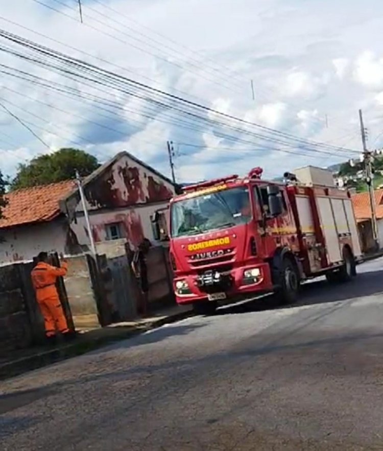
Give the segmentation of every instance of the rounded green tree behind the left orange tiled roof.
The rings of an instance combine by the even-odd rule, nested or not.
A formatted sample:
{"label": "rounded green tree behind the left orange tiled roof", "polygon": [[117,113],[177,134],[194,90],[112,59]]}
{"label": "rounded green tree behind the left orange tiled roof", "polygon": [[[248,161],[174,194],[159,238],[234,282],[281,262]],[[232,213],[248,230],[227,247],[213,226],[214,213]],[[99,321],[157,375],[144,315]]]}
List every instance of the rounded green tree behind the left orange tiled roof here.
{"label": "rounded green tree behind the left orange tiled roof", "polygon": [[28,164],[19,164],[16,177],[11,182],[11,189],[73,179],[76,169],[80,176],[85,177],[99,166],[97,158],[84,151],[62,148],[53,154],[35,157]]}

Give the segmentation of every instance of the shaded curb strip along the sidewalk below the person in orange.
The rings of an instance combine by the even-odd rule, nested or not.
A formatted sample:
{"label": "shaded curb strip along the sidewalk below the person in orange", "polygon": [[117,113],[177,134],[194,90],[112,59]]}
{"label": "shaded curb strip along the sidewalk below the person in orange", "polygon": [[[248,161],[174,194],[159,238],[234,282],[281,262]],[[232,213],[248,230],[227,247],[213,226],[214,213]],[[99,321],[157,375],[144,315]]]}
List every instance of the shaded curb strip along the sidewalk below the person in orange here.
{"label": "shaded curb strip along the sidewalk below the person in orange", "polygon": [[174,315],[166,316],[158,320],[150,321],[144,325],[137,325],[131,330],[121,330],[116,332],[113,336],[99,336],[94,338],[86,338],[86,334],[79,341],[71,343],[70,345],[47,350],[34,354],[28,357],[22,357],[11,362],[4,363],[0,366],[0,380],[9,379],[29,371],[37,370],[49,364],[66,360],[71,357],[76,357],[87,352],[94,351],[104,346],[111,345],[114,342],[133,338],[137,335],[147,332],[152,329],[159,328],[165,324],[175,323],[181,319],[188,318],[193,315],[193,312],[186,311],[175,313]]}

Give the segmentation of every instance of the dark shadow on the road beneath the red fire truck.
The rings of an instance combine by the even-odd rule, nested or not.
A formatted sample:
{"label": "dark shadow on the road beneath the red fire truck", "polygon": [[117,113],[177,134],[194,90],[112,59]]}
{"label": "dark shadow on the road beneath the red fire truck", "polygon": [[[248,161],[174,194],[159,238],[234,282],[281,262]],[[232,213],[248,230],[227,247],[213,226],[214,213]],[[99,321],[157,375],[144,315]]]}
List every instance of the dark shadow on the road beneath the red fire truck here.
{"label": "dark shadow on the road beneath the red fire truck", "polygon": [[309,281],[301,286],[298,301],[291,305],[281,305],[277,296],[266,295],[250,299],[241,304],[224,306],[218,310],[217,314],[227,315],[260,312],[278,308],[294,308],[351,300],[380,293],[383,293],[383,270],[363,272],[358,274],[351,282],[344,284],[330,284],[323,278],[318,281]]}

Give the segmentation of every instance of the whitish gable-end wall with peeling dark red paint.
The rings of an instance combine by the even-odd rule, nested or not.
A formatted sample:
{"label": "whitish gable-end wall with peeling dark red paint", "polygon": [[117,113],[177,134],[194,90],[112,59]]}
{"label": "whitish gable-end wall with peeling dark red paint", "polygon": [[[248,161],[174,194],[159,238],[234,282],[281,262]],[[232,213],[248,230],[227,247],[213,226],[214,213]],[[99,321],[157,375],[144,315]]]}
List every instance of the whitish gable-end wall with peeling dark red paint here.
{"label": "whitish gable-end wall with peeling dark red paint", "polygon": [[[125,242],[135,248],[143,238],[154,240],[151,216],[158,209],[166,208],[173,197],[174,186],[153,173],[146,166],[123,155],[85,186],[85,197],[90,216],[93,239],[98,252],[110,257],[125,252]],[[76,208],[76,221],[71,223],[80,245],[90,241],[81,202],[77,199],[67,204]],[[108,224],[119,224],[123,240],[107,241]],[[116,240],[117,241],[117,240]]]}

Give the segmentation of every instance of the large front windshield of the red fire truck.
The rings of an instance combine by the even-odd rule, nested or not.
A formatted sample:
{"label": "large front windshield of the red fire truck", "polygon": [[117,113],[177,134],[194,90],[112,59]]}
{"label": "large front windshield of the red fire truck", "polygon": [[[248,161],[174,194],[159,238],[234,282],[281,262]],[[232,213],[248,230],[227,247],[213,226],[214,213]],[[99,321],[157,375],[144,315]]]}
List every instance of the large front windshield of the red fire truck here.
{"label": "large front windshield of the red fire truck", "polygon": [[250,197],[246,186],[211,192],[172,204],[172,237],[245,224],[250,219]]}

